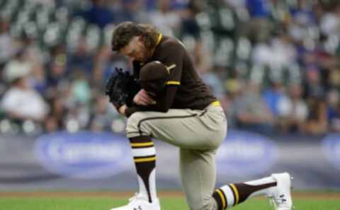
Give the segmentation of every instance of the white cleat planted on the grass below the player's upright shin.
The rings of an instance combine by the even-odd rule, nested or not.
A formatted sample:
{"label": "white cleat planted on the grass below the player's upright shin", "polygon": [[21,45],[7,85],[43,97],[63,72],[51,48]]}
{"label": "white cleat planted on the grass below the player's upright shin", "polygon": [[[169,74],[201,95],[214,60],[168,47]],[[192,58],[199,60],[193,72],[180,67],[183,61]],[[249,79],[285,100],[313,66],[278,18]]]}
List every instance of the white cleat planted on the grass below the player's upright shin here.
{"label": "white cleat planted on the grass below the player's upright shin", "polygon": [[129,203],[127,205],[110,210],[161,210],[161,206],[159,205],[158,199],[154,199],[152,203],[149,203],[147,199],[136,194],[134,197],[129,199]]}

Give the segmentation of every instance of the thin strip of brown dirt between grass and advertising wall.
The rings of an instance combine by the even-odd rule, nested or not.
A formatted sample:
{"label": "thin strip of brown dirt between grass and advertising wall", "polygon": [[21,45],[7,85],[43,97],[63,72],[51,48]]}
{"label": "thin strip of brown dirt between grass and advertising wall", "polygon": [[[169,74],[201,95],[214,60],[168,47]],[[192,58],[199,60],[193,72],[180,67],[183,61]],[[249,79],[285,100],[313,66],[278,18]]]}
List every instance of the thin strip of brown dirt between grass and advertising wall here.
{"label": "thin strip of brown dirt between grass and advertising wall", "polygon": [[[131,197],[133,192],[0,192],[0,197]],[[159,192],[159,197],[182,197],[181,192]],[[340,192],[293,192],[302,199],[338,199]]]}

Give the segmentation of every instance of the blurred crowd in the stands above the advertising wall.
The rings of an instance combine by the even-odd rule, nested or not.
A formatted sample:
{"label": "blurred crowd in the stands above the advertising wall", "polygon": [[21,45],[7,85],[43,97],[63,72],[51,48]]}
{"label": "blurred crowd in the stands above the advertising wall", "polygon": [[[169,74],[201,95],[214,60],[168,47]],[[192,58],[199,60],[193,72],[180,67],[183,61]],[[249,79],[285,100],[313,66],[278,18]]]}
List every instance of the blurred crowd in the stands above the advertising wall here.
{"label": "blurred crowd in the stands above the advertising wall", "polygon": [[132,71],[111,52],[122,21],[186,45],[229,129],[340,132],[340,1],[0,0],[0,133],[124,132],[103,95]]}

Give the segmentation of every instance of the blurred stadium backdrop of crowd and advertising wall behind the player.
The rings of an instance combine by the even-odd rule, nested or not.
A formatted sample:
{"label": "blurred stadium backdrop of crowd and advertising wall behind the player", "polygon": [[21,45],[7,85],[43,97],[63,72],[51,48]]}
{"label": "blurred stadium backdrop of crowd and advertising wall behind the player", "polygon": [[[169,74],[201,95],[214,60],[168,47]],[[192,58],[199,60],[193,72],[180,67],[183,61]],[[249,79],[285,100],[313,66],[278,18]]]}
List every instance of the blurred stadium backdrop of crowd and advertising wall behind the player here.
{"label": "blurred stadium backdrop of crowd and advertising wall behind the player", "polygon": [[[134,190],[125,118],[103,95],[113,26],[179,37],[221,101],[217,182],[283,170],[297,189],[340,189],[340,2],[0,0],[0,191]],[[159,189],[179,189],[157,141]]]}

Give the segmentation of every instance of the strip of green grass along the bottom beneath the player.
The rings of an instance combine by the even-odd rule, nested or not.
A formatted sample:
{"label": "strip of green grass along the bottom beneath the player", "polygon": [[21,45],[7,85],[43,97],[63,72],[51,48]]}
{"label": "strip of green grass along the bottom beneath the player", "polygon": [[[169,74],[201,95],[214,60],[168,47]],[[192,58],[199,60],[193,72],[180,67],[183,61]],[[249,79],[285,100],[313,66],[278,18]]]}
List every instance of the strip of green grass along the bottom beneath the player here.
{"label": "strip of green grass along the bottom beneath the player", "polygon": [[[0,197],[0,210],[108,210],[123,205],[127,199],[111,197]],[[181,197],[161,199],[162,210],[188,210]],[[339,199],[295,199],[295,210],[339,210]],[[266,199],[249,199],[234,210],[271,209]]]}

